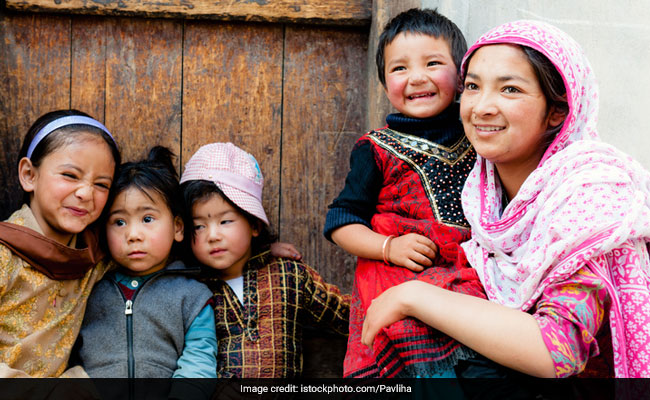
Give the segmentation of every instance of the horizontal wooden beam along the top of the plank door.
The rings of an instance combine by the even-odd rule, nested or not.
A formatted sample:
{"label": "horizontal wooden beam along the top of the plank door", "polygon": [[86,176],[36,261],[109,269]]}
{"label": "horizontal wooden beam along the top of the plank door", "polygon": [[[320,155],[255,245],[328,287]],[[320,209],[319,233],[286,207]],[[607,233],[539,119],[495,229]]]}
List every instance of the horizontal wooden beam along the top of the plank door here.
{"label": "horizontal wooden beam along the top of the plank door", "polygon": [[371,16],[371,0],[6,0],[6,4],[29,11],[334,25],[368,25]]}

